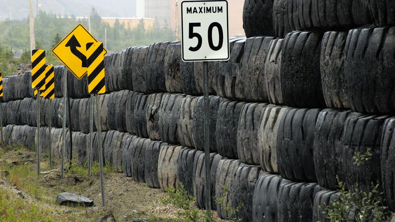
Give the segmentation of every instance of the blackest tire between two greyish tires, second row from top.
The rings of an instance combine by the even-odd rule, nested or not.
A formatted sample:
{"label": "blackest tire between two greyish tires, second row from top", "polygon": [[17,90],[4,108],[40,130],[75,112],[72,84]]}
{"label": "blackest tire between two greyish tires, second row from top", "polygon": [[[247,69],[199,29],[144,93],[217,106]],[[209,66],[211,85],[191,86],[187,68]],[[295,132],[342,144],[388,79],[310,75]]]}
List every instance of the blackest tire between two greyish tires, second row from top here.
{"label": "blackest tire between two greyish tires, second row from top", "polygon": [[322,35],[292,32],[286,35],[281,52],[281,94],[290,107],[325,107],[319,55]]}

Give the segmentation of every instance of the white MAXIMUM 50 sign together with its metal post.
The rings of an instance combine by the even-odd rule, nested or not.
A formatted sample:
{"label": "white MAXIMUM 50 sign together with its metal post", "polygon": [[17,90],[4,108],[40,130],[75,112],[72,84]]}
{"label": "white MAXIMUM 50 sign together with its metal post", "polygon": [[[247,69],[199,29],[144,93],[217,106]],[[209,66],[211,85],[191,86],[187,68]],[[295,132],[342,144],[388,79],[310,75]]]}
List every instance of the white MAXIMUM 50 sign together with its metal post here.
{"label": "white MAXIMUM 50 sign together with its metal post", "polygon": [[203,62],[205,202],[211,221],[208,61],[229,59],[228,2],[197,0],[181,3],[182,60]]}

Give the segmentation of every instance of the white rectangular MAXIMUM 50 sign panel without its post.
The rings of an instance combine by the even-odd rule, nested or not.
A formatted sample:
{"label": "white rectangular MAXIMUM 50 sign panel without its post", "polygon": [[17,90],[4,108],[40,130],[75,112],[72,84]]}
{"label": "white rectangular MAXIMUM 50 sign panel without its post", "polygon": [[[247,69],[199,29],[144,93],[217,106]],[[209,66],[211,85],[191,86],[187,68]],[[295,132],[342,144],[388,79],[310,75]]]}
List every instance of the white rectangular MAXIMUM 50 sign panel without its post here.
{"label": "white rectangular MAXIMUM 50 sign panel without its post", "polygon": [[183,1],[182,60],[229,59],[228,2],[226,0]]}

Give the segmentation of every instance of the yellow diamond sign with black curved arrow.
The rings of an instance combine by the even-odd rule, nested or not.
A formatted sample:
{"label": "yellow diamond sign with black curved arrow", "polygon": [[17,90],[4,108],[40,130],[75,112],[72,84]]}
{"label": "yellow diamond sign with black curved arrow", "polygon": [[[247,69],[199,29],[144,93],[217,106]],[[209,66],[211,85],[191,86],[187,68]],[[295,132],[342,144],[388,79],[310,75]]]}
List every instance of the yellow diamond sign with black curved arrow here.
{"label": "yellow diamond sign with black curved arrow", "polygon": [[[96,38],[79,24],[52,49],[52,52],[80,79],[87,72],[86,49],[95,42],[98,42]],[[104,54],[107,54],[106,49],[104,49],[104,52]]]}

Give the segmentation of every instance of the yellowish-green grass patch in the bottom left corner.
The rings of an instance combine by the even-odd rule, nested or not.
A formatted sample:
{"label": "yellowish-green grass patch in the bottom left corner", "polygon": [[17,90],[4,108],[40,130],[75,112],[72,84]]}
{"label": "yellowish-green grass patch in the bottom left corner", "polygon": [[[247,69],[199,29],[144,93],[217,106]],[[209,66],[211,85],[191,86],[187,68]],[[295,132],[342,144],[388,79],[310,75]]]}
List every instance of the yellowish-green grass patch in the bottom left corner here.
{"label": "yellowish-green grass patch in the bottom left corner", "polygon": [[0,190],[0,221],[54,221],[48,215],[49,212],[41,210],[35,202],[31,204],[24,199],[15,198],[6,190]]}

